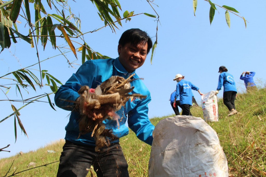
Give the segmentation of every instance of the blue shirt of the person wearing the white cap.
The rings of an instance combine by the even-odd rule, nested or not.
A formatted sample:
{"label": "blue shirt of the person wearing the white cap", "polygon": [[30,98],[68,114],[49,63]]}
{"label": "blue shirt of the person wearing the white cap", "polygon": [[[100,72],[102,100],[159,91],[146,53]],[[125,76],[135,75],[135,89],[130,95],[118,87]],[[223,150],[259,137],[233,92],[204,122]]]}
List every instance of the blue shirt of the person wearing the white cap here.
{"label": "blue shirt of the person wearing the white cap", "polygon": [[199,88],[193,85],[191,82],[182,79],[176,84],[176,96],[180,97],[180,105],[188,104],[192,105],[192,89],[198,91]]}

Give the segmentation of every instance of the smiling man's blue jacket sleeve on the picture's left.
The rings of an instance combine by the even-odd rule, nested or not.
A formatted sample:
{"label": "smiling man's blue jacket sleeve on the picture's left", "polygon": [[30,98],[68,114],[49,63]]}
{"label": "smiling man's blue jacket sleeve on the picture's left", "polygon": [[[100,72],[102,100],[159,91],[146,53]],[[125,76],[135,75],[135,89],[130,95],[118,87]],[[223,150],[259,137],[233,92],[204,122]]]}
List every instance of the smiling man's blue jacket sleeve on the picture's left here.
{"label": "smiling man's blue jacket sleeve on the picture's left", "polygon": [[55,94],[56,106],[64,110],[73,110],[73,104],[69,101],[75,101],[80,95],[78,90],[83,85],[88,85],[90,88],[95,80],[95,74],[97,72],[96,64],[92,62],[85,62],[77,70],[76,74],[73,74],[64,85],[61,85]]}

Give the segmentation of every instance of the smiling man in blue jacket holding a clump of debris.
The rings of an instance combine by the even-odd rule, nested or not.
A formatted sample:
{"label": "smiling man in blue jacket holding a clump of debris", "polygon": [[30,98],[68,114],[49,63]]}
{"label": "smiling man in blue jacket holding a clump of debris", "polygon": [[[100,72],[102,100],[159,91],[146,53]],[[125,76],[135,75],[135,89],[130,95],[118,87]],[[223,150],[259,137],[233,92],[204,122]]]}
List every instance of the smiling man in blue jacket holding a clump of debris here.
{"label": "smiling man in blue jacket holding a clump of debris", "polygon": [[[83,85],[95,89],[111,76],[121,76],[125,79],[135,74],[131,81],[133,93],[146,95],[146,98],[130,99],[116,113],[119,115],[119,126],[116,120],[105,119],[103,123],[111,129],[118,138],[128,134],[128,127],[145,143],[152,144],[152,131],[154,126],[148,118],[148,103],[151,95],[143,81],[135,71],[145,62],[147,54],[152,47],[151,38],[140,29],[128,29],[119,39],[118,55],[116,59],[88,60],[78,68],[64,85],[55,94],[55,103],[58,107],[71,111],[69,123],[66,125],[65,145],[60,156],[57,176],[85,177],[92,165],[97,176],[129,176],[128,164],[124,157],[119,139],[111,141],[95,152],[95,140],[92,132],[80,135],[78,111],[73,111],[72,102],[78,101],[78,90]],[[128,127],[126,126],[126,120]]]}

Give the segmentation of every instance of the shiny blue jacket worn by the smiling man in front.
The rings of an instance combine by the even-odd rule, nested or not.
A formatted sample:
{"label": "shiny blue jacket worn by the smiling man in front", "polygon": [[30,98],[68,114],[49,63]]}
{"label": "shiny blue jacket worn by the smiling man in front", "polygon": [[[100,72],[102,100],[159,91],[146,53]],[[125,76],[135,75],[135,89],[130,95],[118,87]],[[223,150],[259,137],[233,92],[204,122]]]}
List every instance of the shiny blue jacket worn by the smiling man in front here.
{"label": "shiny blue jacket worn by the smiling man in front", "polygon": [[[75,101],[80,96],[77,91],[81,86],[88,85],[90,88],[96,88],[97,85],[109,79],[111,76],[117,75],[127,78],[134,73],[135,71],[128,73],[118,58],[88,60],[80,66],[76,74],[73,74],[68,81],[57,90],[55,94],[56,106],[72,111],[72,108],[69,108],[69,106],[73,105],[73,103],[62,101],[61,99]],[[122,108],[117,111],[117,114],[120,116],[119,127],[117,127],[117,122],[115,120],[105,119],[103,123],[106,128],[112,129],[113,134],[119,138],[128,134],[129,127],[136,133],[140,140],[151,145],[154,126],[148,118],[148,103],[151,101],[150,92],[137,75],[133,77],[136,80],[131,82],[131,86],[134,87],[132,93],[147,95],[147,97],[143,99],[134,97],[133,100],[128,100],[126,105],[124,107],[122,106]],[[128,127],[125,124],[127,118]],[[79,135],[79,119],[80,114],[78,112],[71,112],[69,123],[65,127],[65,139],[77,144],[95,146],[95,140],[91,137],[92,132],[81,135],[80,138],[77,139]],[[112,143],[117,141],[119,140],[113,141]]]}

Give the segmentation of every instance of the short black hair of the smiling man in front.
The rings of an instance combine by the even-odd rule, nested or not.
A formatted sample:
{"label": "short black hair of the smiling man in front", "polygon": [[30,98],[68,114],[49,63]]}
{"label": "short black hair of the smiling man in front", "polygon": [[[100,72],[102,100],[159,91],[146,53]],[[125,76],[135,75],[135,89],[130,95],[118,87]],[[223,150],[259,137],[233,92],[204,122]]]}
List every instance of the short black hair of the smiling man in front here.
{"label": "short black hair of the smiling man in front", "polygon": [[147,54],[149,53],[150,49],[152,48],[152,40],[149,35],[138,28],[128,29],[123,32],[122,36],[120,37],[118,44],[121,46],[126,45],[127,43],[131,43],[133,45],[138,45],[141,42],[147,42],[148,49]]}

